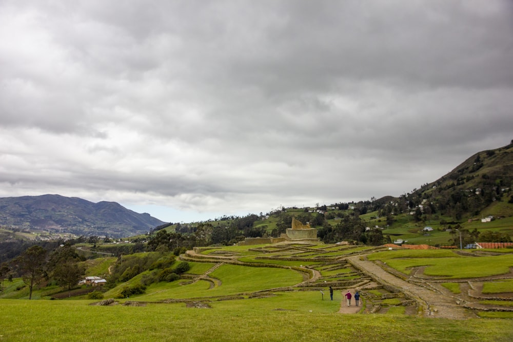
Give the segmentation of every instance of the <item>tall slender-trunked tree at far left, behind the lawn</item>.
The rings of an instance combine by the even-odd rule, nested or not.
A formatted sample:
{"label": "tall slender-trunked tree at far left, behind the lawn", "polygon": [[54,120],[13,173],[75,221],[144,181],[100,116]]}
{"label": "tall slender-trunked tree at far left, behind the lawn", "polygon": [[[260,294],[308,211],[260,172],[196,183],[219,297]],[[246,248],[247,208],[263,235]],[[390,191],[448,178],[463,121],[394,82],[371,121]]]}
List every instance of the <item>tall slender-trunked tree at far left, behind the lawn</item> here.
{"label": "tall slender-trunked tree at far left, behind the lawn", "polygon": [[29,287],[29,299],[32,299],[34,285],[44,278],[47,251],[41,246],[32,246],[15,259],[25,284]]}

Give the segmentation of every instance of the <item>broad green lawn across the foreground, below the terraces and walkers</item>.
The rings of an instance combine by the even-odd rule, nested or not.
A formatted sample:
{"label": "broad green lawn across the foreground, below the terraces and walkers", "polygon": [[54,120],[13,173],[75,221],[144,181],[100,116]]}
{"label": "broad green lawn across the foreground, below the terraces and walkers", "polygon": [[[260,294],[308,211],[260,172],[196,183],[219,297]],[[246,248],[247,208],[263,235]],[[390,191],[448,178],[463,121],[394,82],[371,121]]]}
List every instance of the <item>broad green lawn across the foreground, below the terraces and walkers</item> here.
{"label": "broad green lawn across the foreground, below the terraces and walkers", "polygon": [[[0,338],[9,341],[480,341],[513,339],[513,320],[441,320],[341,315],[340,301],[311,293],[185,304],[90,306],[91,300],[2,300]],[[511,316],[510,316],[511,317]]]}

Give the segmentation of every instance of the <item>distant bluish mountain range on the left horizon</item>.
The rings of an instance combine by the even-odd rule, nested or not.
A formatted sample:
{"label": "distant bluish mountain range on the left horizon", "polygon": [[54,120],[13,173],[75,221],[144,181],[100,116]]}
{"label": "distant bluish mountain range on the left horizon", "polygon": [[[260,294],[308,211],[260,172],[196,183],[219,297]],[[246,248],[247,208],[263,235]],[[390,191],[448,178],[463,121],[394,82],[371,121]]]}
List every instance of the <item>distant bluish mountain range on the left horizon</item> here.
{"label": "distant bluish mountain range on the left horizon", "polygon": [[150,214],[139,214],[116,202],[92,203],[61,195],[0,198],[0,226],[75,235],[125,237],[164,224]]}

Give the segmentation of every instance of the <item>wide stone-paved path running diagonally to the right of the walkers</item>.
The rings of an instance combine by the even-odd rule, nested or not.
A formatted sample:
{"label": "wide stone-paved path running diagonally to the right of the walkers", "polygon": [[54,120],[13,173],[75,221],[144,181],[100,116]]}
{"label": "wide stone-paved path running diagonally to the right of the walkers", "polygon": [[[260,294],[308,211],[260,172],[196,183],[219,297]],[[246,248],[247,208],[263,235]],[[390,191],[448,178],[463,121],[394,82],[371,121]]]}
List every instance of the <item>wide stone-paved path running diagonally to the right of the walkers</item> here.
{"label": "wide stone-paved path running diagonally to the right of the walkers", "polygon": [[347,258],[354,267],[362,270],[384,285],[399,288],[409,297],[416,299],[428,317],[467,319],[476,315],[456,303],[456,299],[441,293],[431,291],[425,287],[412,284],[383,270],[371,261],[361,260],[360,256]]}

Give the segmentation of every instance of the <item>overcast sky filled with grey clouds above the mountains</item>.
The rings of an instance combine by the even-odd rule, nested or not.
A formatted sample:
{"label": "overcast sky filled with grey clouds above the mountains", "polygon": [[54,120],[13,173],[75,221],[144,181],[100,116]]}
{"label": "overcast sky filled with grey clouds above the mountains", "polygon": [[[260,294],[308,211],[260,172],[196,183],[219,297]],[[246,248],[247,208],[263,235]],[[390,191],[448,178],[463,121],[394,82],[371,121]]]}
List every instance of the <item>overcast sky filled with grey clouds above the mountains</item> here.
{"label": "overcast sky filled with grey clouds above the mountains", "polygon": [[513,2],[0,0],[0,197],[399,196],[513,139]]}

